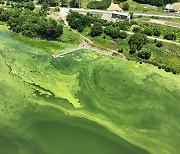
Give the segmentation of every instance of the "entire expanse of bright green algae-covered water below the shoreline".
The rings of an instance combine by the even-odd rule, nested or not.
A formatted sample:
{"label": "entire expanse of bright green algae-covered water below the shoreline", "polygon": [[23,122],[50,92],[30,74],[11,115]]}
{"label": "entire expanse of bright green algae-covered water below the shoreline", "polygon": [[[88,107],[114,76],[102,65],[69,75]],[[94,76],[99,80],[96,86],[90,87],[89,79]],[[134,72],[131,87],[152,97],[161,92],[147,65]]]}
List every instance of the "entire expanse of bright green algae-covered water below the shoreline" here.
{"label": "entire expanse of bright green algae-covered water below the shoreline", "polygon": [[89,51],[53,59],[3,29],[0,40],[0,154],[180,151],[179,76]]}

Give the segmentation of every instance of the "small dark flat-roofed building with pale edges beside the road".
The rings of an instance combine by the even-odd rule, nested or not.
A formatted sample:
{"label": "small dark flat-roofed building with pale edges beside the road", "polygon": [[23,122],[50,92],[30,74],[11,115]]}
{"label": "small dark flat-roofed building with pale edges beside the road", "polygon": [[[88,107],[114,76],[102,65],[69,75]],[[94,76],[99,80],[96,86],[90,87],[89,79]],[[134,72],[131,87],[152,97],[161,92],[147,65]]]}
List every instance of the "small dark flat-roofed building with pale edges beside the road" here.
{"label": "small dark flat-roofed building with pale edges beside the road", "polygon": [[126,20],[129,19],[130,21],[130,14],[127,12],[112,12],[112,19],[114,20]]}

